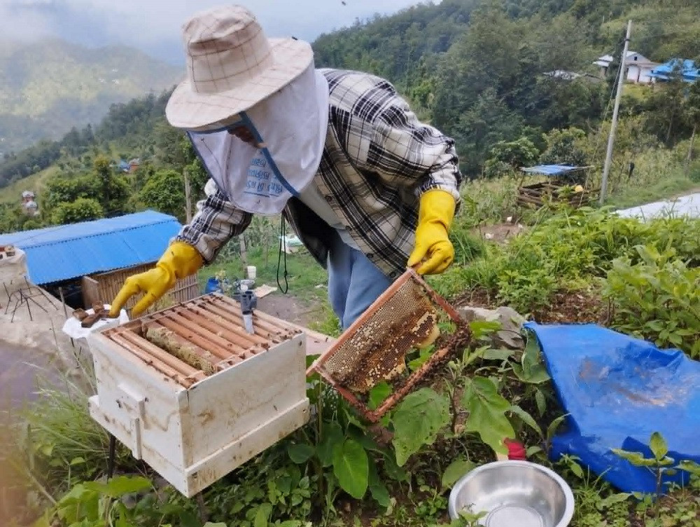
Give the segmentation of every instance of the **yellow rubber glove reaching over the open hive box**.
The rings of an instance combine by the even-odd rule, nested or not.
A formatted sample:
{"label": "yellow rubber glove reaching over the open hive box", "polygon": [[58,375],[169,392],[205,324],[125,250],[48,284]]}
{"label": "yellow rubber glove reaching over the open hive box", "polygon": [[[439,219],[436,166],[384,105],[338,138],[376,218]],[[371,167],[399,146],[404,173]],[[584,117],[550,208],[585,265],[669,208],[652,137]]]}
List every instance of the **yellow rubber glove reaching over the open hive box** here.
{"label": "yellow rubber glove reaching over the open hive box", "polygon": [[130,276],[124,281],[112,302],[109,316],[118,317],[127,300],[143,292],[144,298],[132,309],[132,316],[138,317],[171,289],[176,280],[196,273],[203,264],[204,260],[195,247],[183,242],[172,243],[153,269]]}

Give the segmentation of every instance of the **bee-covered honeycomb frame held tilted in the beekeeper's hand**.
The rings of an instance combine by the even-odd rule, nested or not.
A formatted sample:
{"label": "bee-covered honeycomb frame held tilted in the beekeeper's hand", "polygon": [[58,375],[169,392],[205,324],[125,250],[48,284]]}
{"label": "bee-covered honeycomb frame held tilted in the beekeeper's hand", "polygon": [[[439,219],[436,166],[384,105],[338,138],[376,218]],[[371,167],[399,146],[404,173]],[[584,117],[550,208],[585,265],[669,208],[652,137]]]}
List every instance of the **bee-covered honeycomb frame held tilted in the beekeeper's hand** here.
{"label": "bee-covered honeycomb frame held tilted in the beekeeper's hand", "polygon": [[[451,348],[468,341],[468,329],[454,308],[409,270],[318,357],[307,374],[318,372],[376,422],[441,364]],[[390,384],[391,395],[371,410],[368,393],[382,382]]]}

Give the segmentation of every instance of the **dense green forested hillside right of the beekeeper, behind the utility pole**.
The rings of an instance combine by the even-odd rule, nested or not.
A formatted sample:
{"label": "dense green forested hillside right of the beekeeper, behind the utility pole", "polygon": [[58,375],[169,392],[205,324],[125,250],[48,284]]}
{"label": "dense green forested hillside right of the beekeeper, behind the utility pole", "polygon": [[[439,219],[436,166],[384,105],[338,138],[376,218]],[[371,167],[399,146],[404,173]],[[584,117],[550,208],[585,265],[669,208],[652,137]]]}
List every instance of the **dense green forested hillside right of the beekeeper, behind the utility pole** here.
{"label": "dense green forested hillside right of the beekeeper, behind the utility pole", "polygon": [[[553,128],[596,129],[612,85],[596,82],[592,62],[608,53],[619,59],[628,18],[631,50],[657,62],[700,57],[698,7],[696,0],[444,0],[323,35],[314,49],[323,65],[393,81],[457,140],[463,168],[477,174],[499,140],[537,144]],[[545,75],[557,70],[591,76]],[[623,111],[668,121],[661,99],[628,100]],[[674,128],[671,141],[689,135],[689,126]]]}

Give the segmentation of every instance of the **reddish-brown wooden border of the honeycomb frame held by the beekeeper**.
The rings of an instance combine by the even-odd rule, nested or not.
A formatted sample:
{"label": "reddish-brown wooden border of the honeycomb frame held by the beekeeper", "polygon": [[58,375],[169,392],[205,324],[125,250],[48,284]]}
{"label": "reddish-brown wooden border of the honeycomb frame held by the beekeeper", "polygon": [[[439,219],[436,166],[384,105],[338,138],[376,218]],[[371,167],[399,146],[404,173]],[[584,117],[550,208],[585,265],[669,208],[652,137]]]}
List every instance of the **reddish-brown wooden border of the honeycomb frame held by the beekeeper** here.
{"label": "reddish-brown wooden border of the honeycomb frame held by the beekeeper", "polygon": [[375,300],[372,305],[365,310],[365,312],[358,317],[358,319],[351,324],[351,326],[344,331],[344,333],[339,336],[337,341],[333,343],[333,345],[328,348],[328,350],[325,351],[322,355],[320,355],[313,364],[307,369],[307,376],[310,376],[311,374],[317,373],[323,378],[325,381],[327,381],[330,385],[332,385],[337,392],[339,392],[342,397],[344,397],[350,404],[352,404],[367,420],[369,420],[372,423],[377,423],[384,414],[389,411],[395,404],[400,402],[401,399],[403,399],[406,395],[411,392],[414,387],[416,386],[416,383],[421,381],[423,377],[428,374],[431,370],[435,368],[437,364],[440,364],[440,362],[444,359],[444,357],[447,356],[447,354],[451,351],[449,348],[444,347],[440,348],[438,350],[435,350],[435,352],[430,355],[430,358],[423,363],[419,369],[416,369],[412,374],[408,376],[408,378],[404,381],[404,383],[400,386],[398,390],[393,392],[389,397],[387,397],[384,402],[382,402],[377,409],[371,410],[366,404],[364,404],[358,397],[356,397],[355,393],[353,393],[352,390],[349,390],[346,388],[342,383],[338,381],[337,378],[335,378],[327,369],[324,368],[324,365],[328,362],[328,360],[333,357],[338,351],[346,345],[353,336],[358,334],[358,331],[365,326],[368,322],[370,322],[370,319],[372,319],[374,313],[377,312],[380,308],[383,308],[385,305],[388,305],[391,302],[391,299],[394,298],[394,296],[402,289],[402,287],[416,287],[418,289],[421,289],[421,291],[425,294],[427,299],[433,303],[435,308],[442,309],[444,313],[447,314],[451,322],[454,322],[457,327],[459,327],[460,324],[462,324],[461,317],[457,313],[457,311],[447,303],[446,300],[442,298],[437,292],[435,292],[433,289],[430,288],[430,286],[421,278],[421,276],[416,273],[413,269],[407,269],[405,273],[403,273],[393,284],[386,289],[384,293],[382,293],[377,300]]}

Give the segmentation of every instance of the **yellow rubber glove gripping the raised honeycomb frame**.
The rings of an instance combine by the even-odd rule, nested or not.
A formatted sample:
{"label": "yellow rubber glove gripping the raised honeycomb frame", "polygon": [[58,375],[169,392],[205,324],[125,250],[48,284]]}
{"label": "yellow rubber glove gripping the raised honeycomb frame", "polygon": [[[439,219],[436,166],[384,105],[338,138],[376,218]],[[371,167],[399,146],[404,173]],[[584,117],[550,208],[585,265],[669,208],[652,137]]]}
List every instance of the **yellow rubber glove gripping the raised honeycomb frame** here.
{"label": "yellow rubber glove gripping the raised honeycomb frame", "polygon": [[437,275],[454,260],[454,247],[447,233],[454,219],[456,203],[449,192],[438,189],[421,196],[416,228],[416,247],[408,259],[408,266],[421,264],[419,275]]}

